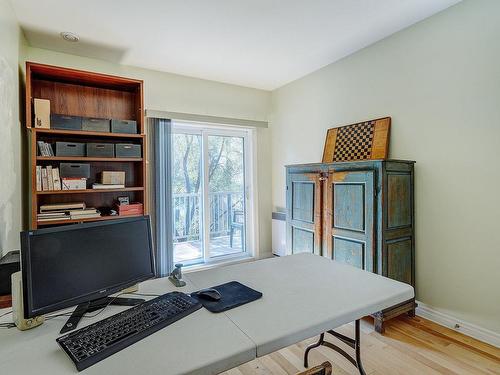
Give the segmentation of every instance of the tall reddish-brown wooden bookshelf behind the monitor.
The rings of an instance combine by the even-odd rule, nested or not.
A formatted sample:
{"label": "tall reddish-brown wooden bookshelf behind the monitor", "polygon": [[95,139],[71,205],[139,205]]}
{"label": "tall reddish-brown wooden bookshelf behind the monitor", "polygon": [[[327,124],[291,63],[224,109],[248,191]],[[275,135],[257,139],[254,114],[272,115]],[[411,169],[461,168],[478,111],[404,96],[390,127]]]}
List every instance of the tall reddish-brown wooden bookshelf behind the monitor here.
{"label": "tall reddish-brown wooden bookshelf behind the monitor", "polygon": [[[61,130],[34,127],[33,99],[50,100],[53,114],[90,118],[135,120],[137,134],[109,133],[83,130]],[[92,219],[37,221],[39,208],[44,204],[85,202],[87,207],[112,208],[117,198],[128,196],[131,202],[146,206],[146,136],[144,132],[143,82],[38,63],[26,63],[26,127],[30,141],[30,228],[103,221],[123,216],[101,216]],[[87,156],[40,156],[37,141],[130,143],[141,145],[140,158],[106,158]],[[55,149],[54,149],[55,150]],[[36,166],[59,167],[61,162],[88,163],[90,178],[85,190],[36,190]],[[125,171],[125,188],[90,189],[99,182],[102,171]],[[128,217],[128,216],[127,216]]]}

